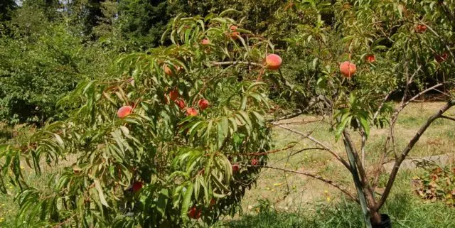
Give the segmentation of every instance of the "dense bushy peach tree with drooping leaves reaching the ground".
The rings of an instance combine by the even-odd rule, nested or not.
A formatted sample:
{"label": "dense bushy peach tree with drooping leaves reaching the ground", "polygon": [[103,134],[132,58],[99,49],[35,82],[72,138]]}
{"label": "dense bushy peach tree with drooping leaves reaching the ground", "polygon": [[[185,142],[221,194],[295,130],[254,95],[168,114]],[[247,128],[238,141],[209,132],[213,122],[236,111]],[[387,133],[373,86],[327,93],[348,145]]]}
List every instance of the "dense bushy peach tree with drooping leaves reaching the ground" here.
{"label": "dense bushy peach tree with drooping leaves reaching the ground", "polygon": [[[225,12],[228,13],[229,11]],[[235,213],[270,148],[267,86],[281,58],[230,18],[177,16],[172,45],[121,55],[80,82],[27,145],[1,148],[18,227],[185,227]],[[36,174],[57,170],[42,186]]]}

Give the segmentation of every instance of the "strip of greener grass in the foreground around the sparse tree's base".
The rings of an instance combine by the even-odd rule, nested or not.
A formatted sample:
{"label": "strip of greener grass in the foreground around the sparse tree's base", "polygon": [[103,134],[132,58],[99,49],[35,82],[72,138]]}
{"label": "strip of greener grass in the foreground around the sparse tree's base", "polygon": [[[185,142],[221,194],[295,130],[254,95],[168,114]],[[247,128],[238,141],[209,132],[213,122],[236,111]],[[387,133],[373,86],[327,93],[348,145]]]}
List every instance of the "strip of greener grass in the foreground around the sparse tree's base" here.
{"label": "strip of greener grass in the foreground around the sparse tree's base", "polygon": [[[269,210],[225,222],[233,228],[363,228],[360,207],[342,201],[332,205],[313,205],[299,213]],[[390,215],[394,228],[455,227],[455,208],[442,202],[423,202],[412,193],[394,195],[382,209]]]}

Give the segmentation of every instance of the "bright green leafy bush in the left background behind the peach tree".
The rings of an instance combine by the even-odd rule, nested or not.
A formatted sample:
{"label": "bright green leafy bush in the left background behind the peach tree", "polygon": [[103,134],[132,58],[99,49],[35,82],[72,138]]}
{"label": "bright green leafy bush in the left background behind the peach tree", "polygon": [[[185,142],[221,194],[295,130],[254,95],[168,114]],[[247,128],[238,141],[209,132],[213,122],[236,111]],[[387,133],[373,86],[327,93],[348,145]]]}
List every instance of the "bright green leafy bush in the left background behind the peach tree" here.
{"label": "bright green leafy bush in the left background behind the peach tree", "polygon": [[48,21],[36,6],[16,10],[9,29],[0,35],[0,118],[11,124],[62,117],[55,102],[109,69],[109,52],[83,43],[63,21]]}

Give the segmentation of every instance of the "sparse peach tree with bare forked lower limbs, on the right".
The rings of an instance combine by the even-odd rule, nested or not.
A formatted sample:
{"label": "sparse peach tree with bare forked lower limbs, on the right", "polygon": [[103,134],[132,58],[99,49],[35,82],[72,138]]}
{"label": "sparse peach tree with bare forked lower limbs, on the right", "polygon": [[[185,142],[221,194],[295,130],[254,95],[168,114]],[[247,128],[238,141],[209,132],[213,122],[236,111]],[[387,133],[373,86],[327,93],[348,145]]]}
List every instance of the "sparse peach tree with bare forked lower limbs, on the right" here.
{"label": "sparse peach tree with bare forked lower limbs, on the right", "polygon": [[[287,171],[322,180],[346,193],[362,207],[367,227],[390,227],[390,219],[380,210],[400,165],[434,121],[455,121],[447,112],[455,106],[455,1],[309,0],[292,7],[306,17],[299,32],[287,39],[289,49],[310,59],[306,65],[316,80],[311,86],[291,81],[295,84],[291,92],[314,89],[313,105],[321,104],[326,114],[318,127],[327,124],[343,149],[338,151],[316,139],[313,128],[300,132],[279,121],[274,125],[331,154],[352,176],[353,184],[342,185],[306,170]],[[332,14],[324,21],[327,12]],[[283,71],[286,69],[287,65]],[[429,92],[444,95],[445,104],[400,145],[397,119],[408,104]],[[369,141],[373,128],[387,129],[380,146]],[[387,162],[395,162],[388,174],[382,172]],[[380,178],[385,179],[382,186]]]}

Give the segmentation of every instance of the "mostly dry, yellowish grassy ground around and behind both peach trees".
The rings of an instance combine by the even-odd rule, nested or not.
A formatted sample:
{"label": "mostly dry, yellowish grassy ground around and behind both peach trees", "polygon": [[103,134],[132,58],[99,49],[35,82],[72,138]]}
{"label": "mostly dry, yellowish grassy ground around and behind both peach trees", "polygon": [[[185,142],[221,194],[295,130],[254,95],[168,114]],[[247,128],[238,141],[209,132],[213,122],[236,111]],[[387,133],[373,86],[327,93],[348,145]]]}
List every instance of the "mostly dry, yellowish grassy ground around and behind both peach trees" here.
{"label": "mostly dry, yellowish grassy ground around and behind both peach trees", "polygon": [[[402,148],[415,134],[428,116],[442,106],[441,102],[413,103],[402,112],[397,122],[396,143]],[[450,116],[455,110],[449,110]],[[325,122],[301,124],[302,121],[322,119],[323,116],[303,115],[282,121],[288,127],[301,132],[313,131],[316,139],[343,151],[341,141],[336,142],[333,133],[328,131]],[[355,135],[355,134],[353,134]],[[366,156],[378,159],[382,151],[382,142],[387,136],[387,129],[372,129],[366,148]],[[301,148],[311,147],[311,143],[287,130],[274,129],[274,147],[283,148],[288,143],[298,142],[288,151],[269,156],[269,165],[291,170],[306,170],[341,184],[351,183],[348,171],[325,151],[303,151],[291,158],[288,155]],[[360,139],[356,139],[360,143]],[[433,156],[455,153],[455,122],[438,119],[425,132],[414,147],[412,157]],[[377,154],[378,156],[375,156]],[[71,159],[70,159],[71,160]],[[370,164],[375,160],[366,160]],[[70,163],[68,161],[67,163]],[[61,165],[65,165],[64,163]],[[24,170],[30,170],[23,164]],[[58,167],[43,170],[42,176],[28,175],[33,184],[45,186],[51,174],[57,173]],[[419,175],[420,169],[402,170],[397,183],[392,188],[392,197],[382,212],[392,217],[393,227],[455,227],[455,208],[443,202],[424,202],[413,193],[412,177]],[[31,173],[31,172],[30,172]],[[380,182],[385,185],[384,182]],[[380,186],[381,187],[381,186]],[[17,207],[13,202],[14,187],[9,185],[12,195],[0,195],[0,227],[15,227],[14,214]],[[350,186],[353,188],[353,186]],[[379,188],[379,192],[381,189]],[[262,203],[261,203],[262,202]],[[319,180],[303,175],[284,173],[280,170],[264,169],[252,190],[247,191],[242,201],[242,214],[225,218],[215,227],[362,227],[360,207],[346,200],[335,188]]]}

